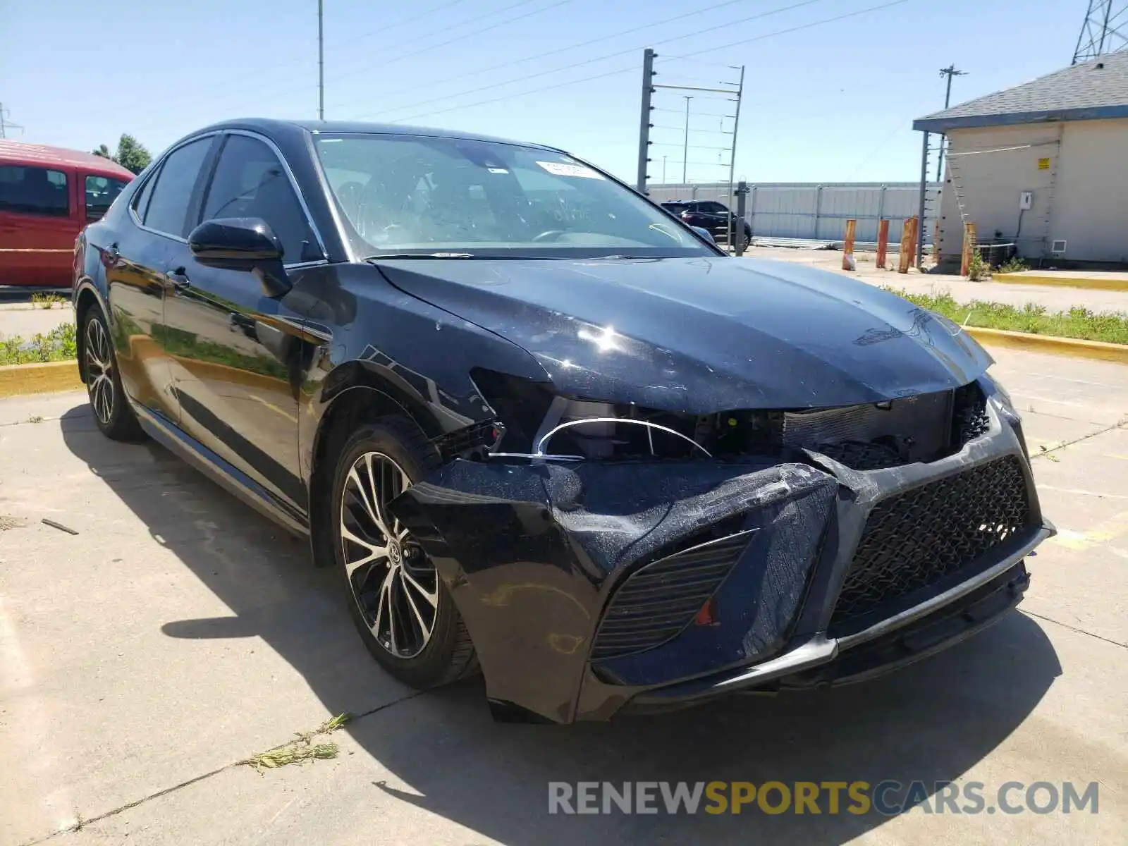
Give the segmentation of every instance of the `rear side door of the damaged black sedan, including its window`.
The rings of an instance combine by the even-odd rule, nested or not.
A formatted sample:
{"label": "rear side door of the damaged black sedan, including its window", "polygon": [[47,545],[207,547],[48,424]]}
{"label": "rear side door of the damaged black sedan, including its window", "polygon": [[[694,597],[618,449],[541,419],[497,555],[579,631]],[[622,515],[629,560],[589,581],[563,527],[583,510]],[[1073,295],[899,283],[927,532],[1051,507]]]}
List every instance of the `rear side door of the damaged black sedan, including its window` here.
{"label": "rear side door of the damaged black sedan, including its window", "polygon": [[129,214],[95,243],[102,253],[108,291],[109,326],[122,387],[136,403],[176,423],[171,354],[165,328],[165,299],[173,288],[168,270],[188,255],[190,218],[218,135],[204,135],[170,150],[134,193]]}

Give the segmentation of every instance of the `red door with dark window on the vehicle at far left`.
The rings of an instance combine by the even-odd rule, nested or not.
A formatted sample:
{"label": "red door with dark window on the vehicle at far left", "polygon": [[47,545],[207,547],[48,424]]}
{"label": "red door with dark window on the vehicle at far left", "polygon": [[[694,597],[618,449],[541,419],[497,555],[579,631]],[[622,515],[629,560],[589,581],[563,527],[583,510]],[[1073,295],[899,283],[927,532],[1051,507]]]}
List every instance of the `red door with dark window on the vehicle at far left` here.
{"label": "red door with dark window on the vehicle at far left", "polygon": [[0,284],[70,284],[77,215],[71,168],[0,164]]}

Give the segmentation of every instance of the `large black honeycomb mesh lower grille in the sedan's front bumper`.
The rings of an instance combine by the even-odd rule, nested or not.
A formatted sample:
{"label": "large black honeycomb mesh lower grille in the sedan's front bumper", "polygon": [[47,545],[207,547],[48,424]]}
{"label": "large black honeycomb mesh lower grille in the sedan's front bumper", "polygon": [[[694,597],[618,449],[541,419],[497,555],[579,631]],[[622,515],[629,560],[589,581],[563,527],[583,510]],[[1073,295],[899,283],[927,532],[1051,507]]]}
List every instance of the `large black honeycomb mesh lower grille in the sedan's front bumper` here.
{"label": "large black honeycomb mesh lower grille in the sedan's front bumper", "polygon": [[970,564],[1029,521],[1022,465],[1006,456],[879,502],[870,513],[831,629]]}

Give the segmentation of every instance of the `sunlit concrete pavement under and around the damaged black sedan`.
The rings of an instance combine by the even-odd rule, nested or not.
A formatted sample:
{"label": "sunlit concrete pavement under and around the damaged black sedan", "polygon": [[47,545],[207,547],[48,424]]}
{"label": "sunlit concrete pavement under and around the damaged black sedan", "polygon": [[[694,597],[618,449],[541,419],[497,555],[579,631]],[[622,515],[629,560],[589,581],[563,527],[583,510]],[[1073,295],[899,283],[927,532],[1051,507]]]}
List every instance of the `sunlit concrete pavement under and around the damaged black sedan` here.
{"label": "sunlit concrete pavement under and around the damaged black sedan", "polygon": [[[0,843],[1122,843],[1128,368],[994,354],[1060,529],[1019,613],[866,685],[574,726],[398,685],[303,544],[80,393],[0,400]],[[334,760],[232,766],[344,711]],[[547,814],[549,781],[887,778],[1099,781],[1100,809]]]}

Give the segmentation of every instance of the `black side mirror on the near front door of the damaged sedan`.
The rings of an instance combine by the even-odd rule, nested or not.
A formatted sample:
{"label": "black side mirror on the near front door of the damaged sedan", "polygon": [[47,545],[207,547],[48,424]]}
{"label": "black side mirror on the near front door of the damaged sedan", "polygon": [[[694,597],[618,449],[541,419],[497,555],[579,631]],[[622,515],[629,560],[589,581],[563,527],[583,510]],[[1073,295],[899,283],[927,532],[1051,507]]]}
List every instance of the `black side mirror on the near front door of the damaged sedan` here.
{"label": "black side mirror on the near front door of the damaged sedan", "polygon": [[292,287],[282,267],[282,241],[261,218],[205,220],[188,233],[188,248],[201,264],[253,273],[267,297]]}

